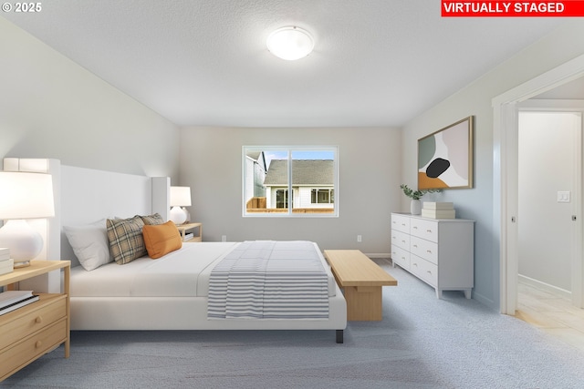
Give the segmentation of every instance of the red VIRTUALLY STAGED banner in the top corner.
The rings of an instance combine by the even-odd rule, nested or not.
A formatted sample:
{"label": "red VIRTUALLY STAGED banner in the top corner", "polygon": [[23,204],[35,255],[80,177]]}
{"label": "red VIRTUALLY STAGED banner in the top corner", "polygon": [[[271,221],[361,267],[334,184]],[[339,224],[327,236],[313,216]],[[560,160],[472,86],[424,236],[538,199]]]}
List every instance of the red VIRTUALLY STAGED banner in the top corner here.
{"label": "red VIRTUALLY STAGED banner in the top corner", "polygon": [[584,0],[450,1],[442,0],[443,17],[578,17]]}

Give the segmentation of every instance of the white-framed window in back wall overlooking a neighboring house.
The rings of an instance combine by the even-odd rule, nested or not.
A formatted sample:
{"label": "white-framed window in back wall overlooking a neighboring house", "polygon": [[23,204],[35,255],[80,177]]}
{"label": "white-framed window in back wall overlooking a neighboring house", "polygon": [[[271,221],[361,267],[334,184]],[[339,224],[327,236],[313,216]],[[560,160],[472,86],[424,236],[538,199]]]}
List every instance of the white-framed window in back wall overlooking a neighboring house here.
{"label": "white-framed window in back wall overlooking a neighboring house", "polygon": [[337,152],[330,146],[245,146],[244,216],[338,216]]}

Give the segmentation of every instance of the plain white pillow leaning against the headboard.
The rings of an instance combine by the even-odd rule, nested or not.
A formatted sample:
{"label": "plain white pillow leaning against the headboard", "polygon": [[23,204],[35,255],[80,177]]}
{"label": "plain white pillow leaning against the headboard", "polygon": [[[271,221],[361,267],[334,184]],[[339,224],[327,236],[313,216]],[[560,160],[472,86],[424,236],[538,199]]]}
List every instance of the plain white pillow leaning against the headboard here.
{"label": "plain white pillow leaning against the headboard", "polygon": [[65,226],[63,230],[75,256],[86,271],[92,271],[112,261],[105,219],[82,226]]}

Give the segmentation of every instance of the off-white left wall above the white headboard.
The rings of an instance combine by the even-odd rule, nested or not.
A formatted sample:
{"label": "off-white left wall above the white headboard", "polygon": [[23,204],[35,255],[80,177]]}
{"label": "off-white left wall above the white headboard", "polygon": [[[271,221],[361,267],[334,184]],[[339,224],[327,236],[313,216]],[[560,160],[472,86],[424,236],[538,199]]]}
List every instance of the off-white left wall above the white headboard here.
{"label": "off-white left wall above the white headboard", "polygon": [[0,17],[0,158],[178,176],[179,129]]}

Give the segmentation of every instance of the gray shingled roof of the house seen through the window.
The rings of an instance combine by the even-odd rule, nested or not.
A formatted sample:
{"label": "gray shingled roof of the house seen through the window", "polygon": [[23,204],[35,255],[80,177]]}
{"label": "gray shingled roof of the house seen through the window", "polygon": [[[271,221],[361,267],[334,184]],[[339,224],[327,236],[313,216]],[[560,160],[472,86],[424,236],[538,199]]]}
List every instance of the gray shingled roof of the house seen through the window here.
{"label": "gray shingled roof of the house seen through the window", "polygon": [[[332,186],[334,184],[332,159],[292,159],[292,185]],[[287,159],[272,159],[264,185],[287,185]]]}

